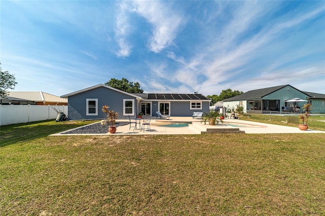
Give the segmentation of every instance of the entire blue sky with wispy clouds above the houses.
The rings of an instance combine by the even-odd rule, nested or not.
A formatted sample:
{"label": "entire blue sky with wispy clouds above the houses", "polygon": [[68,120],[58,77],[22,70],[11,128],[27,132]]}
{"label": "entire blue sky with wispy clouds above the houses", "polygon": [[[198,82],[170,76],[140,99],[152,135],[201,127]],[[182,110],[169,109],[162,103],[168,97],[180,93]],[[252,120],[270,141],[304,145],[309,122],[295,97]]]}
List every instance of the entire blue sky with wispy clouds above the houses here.
{"label": "entire blue sky with wispy clouds above the houses", "polygon": [[1,1],[14,91],[68,94],[111,78],[145,93],[289,84],[325,94],[323,1]]}

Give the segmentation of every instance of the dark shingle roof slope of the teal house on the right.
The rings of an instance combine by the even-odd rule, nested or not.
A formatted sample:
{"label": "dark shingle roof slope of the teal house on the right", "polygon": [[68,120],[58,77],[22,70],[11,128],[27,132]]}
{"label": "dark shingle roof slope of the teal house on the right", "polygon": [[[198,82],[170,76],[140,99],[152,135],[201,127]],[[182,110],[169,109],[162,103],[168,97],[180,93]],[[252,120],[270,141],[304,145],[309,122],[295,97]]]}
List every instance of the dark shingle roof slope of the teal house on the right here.
{"label": "dark shingle roof slope of the teal house on the right", "polygon": [[[244,94],[231,97],[228,99],[224,99],[223,101],[233,101],[233,100],[247,100],[247,99],[254,99],[254,98],[262,98],[266,95],[271,94],[272,92],[275,92],[279,89],[282,89],[286,86],[289,85],[282,85],[282,86],[274,86],[274,87],[269,87],[269,88],[264,88],[264,89],[256,89],[256,90],[251,90],[248,92],[245,92]],[[290,86],[292,87],[292,86]],[[293,88],[293,87],[292,87]]]}

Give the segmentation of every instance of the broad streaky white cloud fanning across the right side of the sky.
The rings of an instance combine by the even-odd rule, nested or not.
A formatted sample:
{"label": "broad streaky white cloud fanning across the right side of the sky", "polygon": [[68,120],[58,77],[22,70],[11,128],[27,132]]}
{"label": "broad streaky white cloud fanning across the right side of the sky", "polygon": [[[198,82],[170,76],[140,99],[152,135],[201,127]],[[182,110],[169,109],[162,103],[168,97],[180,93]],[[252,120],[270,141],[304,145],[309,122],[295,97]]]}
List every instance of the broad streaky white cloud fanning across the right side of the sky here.
{"label": "broad streaky white cloud fanning across the right side of the sky", "polygon": [[[253,34],[251,37],[240,38],[242,32],[249,31],[253,23],[261,18],[262,12],[270,10],[270,8],[266,7],[269,5],[264,6],[265,7],[254,7],[254,10],[251,10],[251,6],[241,7],[239,11],[236,11],[233,19],[226,25],[224,31],[222,30],[220,35],[216,35],[216,39],[211,40],[210,44],[201,47],[197,55],[190,60],[188,65],[194,65],[195,69],[193,70],[194,74],[188,73],[188,76],[195,80],[201,73],[203,73],[207,77],[206,81],[202,83],[199,91],[211,94],[211,92],[218,93],[216,92],[218,89],[221,91],[222,89],[228,89],[231,86],[236,87],[235,90],[247,90],[255,89],[254,86],[257,88],[262,86],[268,87],[277,84],[282,85],[295,83],[299,79],[304,80],[303,76],[306,76],[306,73],[299,72],[303,71],[299,70],[301,65],[299,65],[300,67],[297,65],[296,71],[290,70],[291,74],[295,74],[294,77],[287,76],[287,78],[283,78],[283,75],[281,74],[290,74],[288,71],[280,71],[277,73],[277,71],[269,70],[266,73],[268,76],[258,77],[258,79],[247,81],[243,80],[242,73],[244,71],[245,73],[249,73],[247,70],[250,67],[250,64],[258,65],[258,62],[254,61],[258,59],[261,52],[270,51],[272,46],[277,44],[277,39],[282,37],[284,30],[297,26],[306,20],[310,20],[324,11],[324,9],[321,8],[306,14],[288,16],[286,19],[279,19],[277,23],[266,24],[264,28],[256,34]],[[239,38],[241,39],[240,44],[237,43]],[[219,41],[222,43],[219,43]],[[290,43],[289,41],[287,42]],[[293,48],[290,48],[290,50],[295,52],[295,49]],[[278,55],[281,55],[281,52],[277,51],[277,53]],[[279,58],[278,60],[280,62],[274,62],[278,56],[274,55],[274,53],[270,53],[272,56],[269,57],[269,62],[265,63],[265,67],[274,69],[276,66],[285,65],[289,62],[292,63],[294,60],[302,58],[304,55],[308,55],[308,53],[312,53],[312,51],[306,50],[301,53],[292,53],[293,55]],[[268,66],[268,64],[270,66]],[[312,65],[309,65],[308,67],[309,69],[313,68]],[[187,66],[184,66],[183,69],[179,69],[177,72],[178,74],[175,77],[184,84],[191,83],[194,86],[194,82],[189,82],[188,79],[186,79],[186,73],[184,73],[186,69]],[[258,67],[256,68],[255,66],[254,71],[252,71],[252,73],[255,74],[255,77],[259,72],[256,71],[256,69],[258,69]],[[262,73],[262,71],[265,71],[265,68],[261,68],[260,73]],[[313,76],[316,74],[315,71],[316,70],[313,72]],[[319,74],[319,76],[321,75]],[[226,83],[226,85],[222,83]]]}

